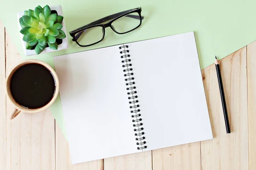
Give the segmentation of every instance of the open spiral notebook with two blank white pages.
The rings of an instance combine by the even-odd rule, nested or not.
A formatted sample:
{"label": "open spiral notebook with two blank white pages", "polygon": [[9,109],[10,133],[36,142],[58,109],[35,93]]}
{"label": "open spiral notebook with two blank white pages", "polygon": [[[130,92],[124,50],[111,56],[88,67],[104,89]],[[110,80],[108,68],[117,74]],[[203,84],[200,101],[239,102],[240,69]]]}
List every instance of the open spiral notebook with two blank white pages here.
{"label": "open spiral notebook with two blank white pages", "polygon": [[54,64],[73,164],[212,139],[193,32]]}

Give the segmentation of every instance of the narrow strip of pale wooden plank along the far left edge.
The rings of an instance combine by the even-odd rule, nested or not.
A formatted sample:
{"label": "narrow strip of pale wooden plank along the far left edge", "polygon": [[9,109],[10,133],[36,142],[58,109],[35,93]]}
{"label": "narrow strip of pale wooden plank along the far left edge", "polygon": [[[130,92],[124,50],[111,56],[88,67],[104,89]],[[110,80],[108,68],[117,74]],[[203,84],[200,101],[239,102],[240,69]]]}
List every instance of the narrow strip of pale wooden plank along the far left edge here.
{"label": "narrow strip of pale wooden plank along the far left edge", "polygon": [[0,21],[0,170],[6,170],[5,28]]}

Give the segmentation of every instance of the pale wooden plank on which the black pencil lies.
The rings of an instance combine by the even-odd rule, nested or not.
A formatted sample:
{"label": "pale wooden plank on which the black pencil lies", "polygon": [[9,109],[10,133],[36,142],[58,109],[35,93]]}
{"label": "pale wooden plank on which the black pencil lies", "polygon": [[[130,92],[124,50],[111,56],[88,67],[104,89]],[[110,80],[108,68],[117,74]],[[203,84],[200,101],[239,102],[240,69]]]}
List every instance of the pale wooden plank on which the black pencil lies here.
{"label": "pale wooden plank on which the black pencil lies", "polygon": [[249,169],[246,52],[246,47],[241,48],[220,63],[230,134],[225,129],[215,65],[202,71],[213,133],[213,140],[201,142],[202,170]]}

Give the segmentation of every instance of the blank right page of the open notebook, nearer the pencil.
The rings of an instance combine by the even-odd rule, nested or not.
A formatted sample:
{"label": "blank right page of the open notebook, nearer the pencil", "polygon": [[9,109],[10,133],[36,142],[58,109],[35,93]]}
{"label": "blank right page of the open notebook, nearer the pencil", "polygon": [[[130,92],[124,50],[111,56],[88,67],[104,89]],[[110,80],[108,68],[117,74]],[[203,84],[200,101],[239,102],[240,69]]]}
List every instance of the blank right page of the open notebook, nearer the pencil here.
{"label": "blank right page of the open notebook, nearer the pencil", "polygon": [[212,139],[194,32],[128,45],[147,148]]}

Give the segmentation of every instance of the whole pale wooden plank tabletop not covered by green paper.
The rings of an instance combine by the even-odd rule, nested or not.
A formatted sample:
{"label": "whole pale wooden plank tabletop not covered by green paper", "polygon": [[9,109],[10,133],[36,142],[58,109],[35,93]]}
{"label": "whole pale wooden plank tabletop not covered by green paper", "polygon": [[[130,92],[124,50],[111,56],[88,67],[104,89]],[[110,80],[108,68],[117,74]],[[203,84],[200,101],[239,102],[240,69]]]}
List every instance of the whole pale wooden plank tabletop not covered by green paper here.
{"label": "whole pale wooden plank tabletop not covered by green paper", "polygon": [[49,109],[9,119],[13,105],[5,95],[5,78],[20,60],[0,22],[0,170],[256,170],[256,42],[221,60],[230,134],[210,65],[202,77],[213,140],[75,165]]}

